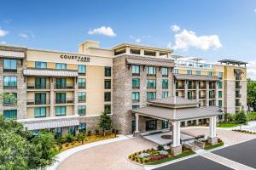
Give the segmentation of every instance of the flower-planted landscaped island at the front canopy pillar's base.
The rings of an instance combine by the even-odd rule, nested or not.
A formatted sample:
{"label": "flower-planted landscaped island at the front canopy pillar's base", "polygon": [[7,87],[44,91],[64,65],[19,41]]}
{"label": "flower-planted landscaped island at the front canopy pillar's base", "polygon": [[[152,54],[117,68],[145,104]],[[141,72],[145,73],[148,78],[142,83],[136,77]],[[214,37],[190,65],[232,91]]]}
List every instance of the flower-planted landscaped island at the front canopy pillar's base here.
{"label": "flower-planted landscaped island at the front canopy pillar's base", "polygon": [[166,161],[176,160],[185,156],[191,156],[195,154],[192,150],[183,148],[183,153],[177,156],[172,156],[171,150],[164,150],[163,147],[159,146],[158,150],[148,149],[136,152],[128,156],[129,160],[142,165],[158,165]]}

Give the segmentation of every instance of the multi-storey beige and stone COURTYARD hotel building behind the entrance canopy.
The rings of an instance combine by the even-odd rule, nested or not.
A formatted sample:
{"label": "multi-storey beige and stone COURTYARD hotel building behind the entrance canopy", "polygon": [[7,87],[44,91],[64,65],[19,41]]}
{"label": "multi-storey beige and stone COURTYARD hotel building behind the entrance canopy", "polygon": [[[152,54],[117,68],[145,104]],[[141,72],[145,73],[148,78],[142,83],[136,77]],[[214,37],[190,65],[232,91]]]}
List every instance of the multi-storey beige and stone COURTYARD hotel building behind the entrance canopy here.
{"label": "multi-storey beige and stone COURTYARD hotel building behind the entrance canopy", "polygon": [[[215,111],[217,106],[229,113],[246,108],[246,64],[230,59],[207,64],[130,43],[100,48],[88,41],[79,44],[78,53],[1,45],[0,93],[13,93],[18,102],[3,101],[0,112],[35,132],[94,130],[106,109],[120,133],[133,133],[136,124],[141,132],[162,129],[168,121],[141,116],[136,122],[134,111],[173,96]],[[194,118],[180,123],[209,122]]]}

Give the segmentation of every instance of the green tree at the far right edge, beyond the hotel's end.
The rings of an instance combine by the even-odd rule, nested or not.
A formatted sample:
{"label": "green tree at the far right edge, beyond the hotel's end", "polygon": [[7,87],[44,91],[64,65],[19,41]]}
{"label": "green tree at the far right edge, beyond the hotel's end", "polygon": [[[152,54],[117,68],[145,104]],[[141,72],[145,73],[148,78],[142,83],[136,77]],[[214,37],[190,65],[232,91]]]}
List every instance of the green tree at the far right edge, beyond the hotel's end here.
{"label": "green tree at the far right edge, beyond the hotel's end", "polygon": [[256,82],[251,79],[247,79],[247,105],[256,111]]}

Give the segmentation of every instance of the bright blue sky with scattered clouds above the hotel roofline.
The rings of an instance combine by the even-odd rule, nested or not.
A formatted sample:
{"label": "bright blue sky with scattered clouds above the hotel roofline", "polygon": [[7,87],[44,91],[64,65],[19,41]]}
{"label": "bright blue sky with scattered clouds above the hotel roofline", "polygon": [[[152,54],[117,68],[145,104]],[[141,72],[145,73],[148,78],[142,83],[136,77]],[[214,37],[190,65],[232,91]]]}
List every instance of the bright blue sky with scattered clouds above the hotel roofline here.
{"label": "bright blue sky with scattered clouds above the hotel roofline", "polygon": [[0,42],[32,48],[77,51],[90,39],[103,48],[120,42],[168,46],[211,62],[256,60],[253,0],[2,0],[0,28]]}

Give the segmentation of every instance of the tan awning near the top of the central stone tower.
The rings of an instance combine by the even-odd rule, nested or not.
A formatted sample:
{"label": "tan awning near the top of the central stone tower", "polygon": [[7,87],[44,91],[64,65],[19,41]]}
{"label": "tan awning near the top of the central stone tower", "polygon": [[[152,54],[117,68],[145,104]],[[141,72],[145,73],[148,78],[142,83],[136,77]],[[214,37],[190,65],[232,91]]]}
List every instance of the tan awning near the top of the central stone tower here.
{"label": "tan awning near the top of the central stone tower", "polygon": [[153,59],[126,59],[126,63],[130,65],[148,65],[148,66],[162,66],[162,67],[174,67],[173,60],[153,60]]}

